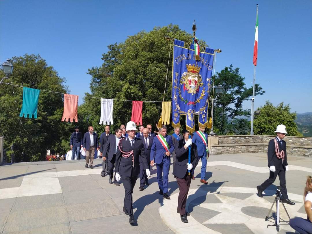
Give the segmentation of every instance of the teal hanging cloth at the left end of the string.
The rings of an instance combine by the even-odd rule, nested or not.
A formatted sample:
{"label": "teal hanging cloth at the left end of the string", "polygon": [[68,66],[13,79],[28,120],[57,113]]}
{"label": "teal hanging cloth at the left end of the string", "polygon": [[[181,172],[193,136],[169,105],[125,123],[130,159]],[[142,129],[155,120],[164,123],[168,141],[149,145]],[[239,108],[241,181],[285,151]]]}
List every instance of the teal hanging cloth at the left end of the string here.
{"label": "teal hanging cloth at the left end of the string", "polygon": [[29,115],[28,118],[31,119],[34,115],[34,118],[37,119],[39,94],[40,90],[38,89],[23,87],[23,105],[20,117],[24,115],[24,118],[27,118]]}

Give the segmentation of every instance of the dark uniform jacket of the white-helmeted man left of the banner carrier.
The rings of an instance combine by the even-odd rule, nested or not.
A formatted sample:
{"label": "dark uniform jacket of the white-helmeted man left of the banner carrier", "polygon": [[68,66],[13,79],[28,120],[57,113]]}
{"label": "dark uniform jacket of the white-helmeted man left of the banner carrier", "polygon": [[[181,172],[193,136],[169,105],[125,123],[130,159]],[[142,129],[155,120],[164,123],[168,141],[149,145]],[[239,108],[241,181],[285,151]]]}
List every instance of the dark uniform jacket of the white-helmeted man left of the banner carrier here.
{"label": "dark uniform jacket of the white-helmeted man left of the banner carrier", "polygon": [[124,158],[119,148],[117,148],[115,172],[118,172],[122,176],[135,177],[140,173],[140,163],[144,170],[148,169],[143,140],[135,137],[133,149],[128,137],[123,138],[120,141],[123,152],[128,153],[133,150],[134,166],[132,164],[132,155],[128,158]]}

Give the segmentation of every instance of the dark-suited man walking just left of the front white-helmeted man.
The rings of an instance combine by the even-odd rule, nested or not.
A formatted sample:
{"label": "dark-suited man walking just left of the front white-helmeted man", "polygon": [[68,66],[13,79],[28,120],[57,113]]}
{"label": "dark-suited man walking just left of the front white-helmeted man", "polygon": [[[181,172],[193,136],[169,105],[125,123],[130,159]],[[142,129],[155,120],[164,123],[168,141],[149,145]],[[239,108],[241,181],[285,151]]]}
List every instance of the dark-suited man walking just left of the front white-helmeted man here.
{"label": "dark-suited man walking just left of the front white-helmeted man", "polygon": [[[103,160],[106,160],[108,166],[108,174],[110,176],[108,182],[113,183],[113,170],[116,161],[116,150],[118,148],[118,142],[121,139],[122,130],[117,128],[115,130],[115,135],[111,134],[103,149]],[[118,181],[114,182],[116,186],[119,186]]]}

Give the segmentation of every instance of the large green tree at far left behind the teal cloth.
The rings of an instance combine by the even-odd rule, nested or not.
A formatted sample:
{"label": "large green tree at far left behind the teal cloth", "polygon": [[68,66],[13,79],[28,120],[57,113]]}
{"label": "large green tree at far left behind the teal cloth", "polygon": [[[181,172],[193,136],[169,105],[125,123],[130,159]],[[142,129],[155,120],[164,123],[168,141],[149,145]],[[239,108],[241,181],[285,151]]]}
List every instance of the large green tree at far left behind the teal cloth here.
{"label": "large green tree at far left behind the teal cloth", "polygon": [[[58,76],[40,55],[13,57],[14,70],[7,83],[35,89],[68,92],[65,79]],[[1,73],[1,76],[4,74]],[[62,123],[64,96],[41,91],[38,102],[38,118],[19,117],[22,108],[23,89],[12,85],[0,85],[0,135],[4,136],[4,148],[10,155],[14,143],[16,161],[45,160],[46,149],[60,152],[69,147],[72,124]],[[63,142],[63,143],[62,143]],[[22,156],[22,152],[24,156]]]}

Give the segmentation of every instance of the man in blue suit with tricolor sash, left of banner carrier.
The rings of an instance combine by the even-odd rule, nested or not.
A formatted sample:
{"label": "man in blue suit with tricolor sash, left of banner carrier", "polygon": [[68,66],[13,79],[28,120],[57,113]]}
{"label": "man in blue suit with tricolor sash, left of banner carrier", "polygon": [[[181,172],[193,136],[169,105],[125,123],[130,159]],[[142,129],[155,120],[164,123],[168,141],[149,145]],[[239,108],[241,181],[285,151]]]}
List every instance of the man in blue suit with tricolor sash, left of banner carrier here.
{"label": "man in blue suit with tricolor sash, left of banner carrier", "polygon": [[[166,125],[162,125],[159,134],[154,138],[151,149],[151,166],[156,163],[159,194],[170,199],[168,195],[168,175],[170,168],[170,154],[174,150],[172,137],[167,135]],[[163,174],[163,175],[162,175]]]}

